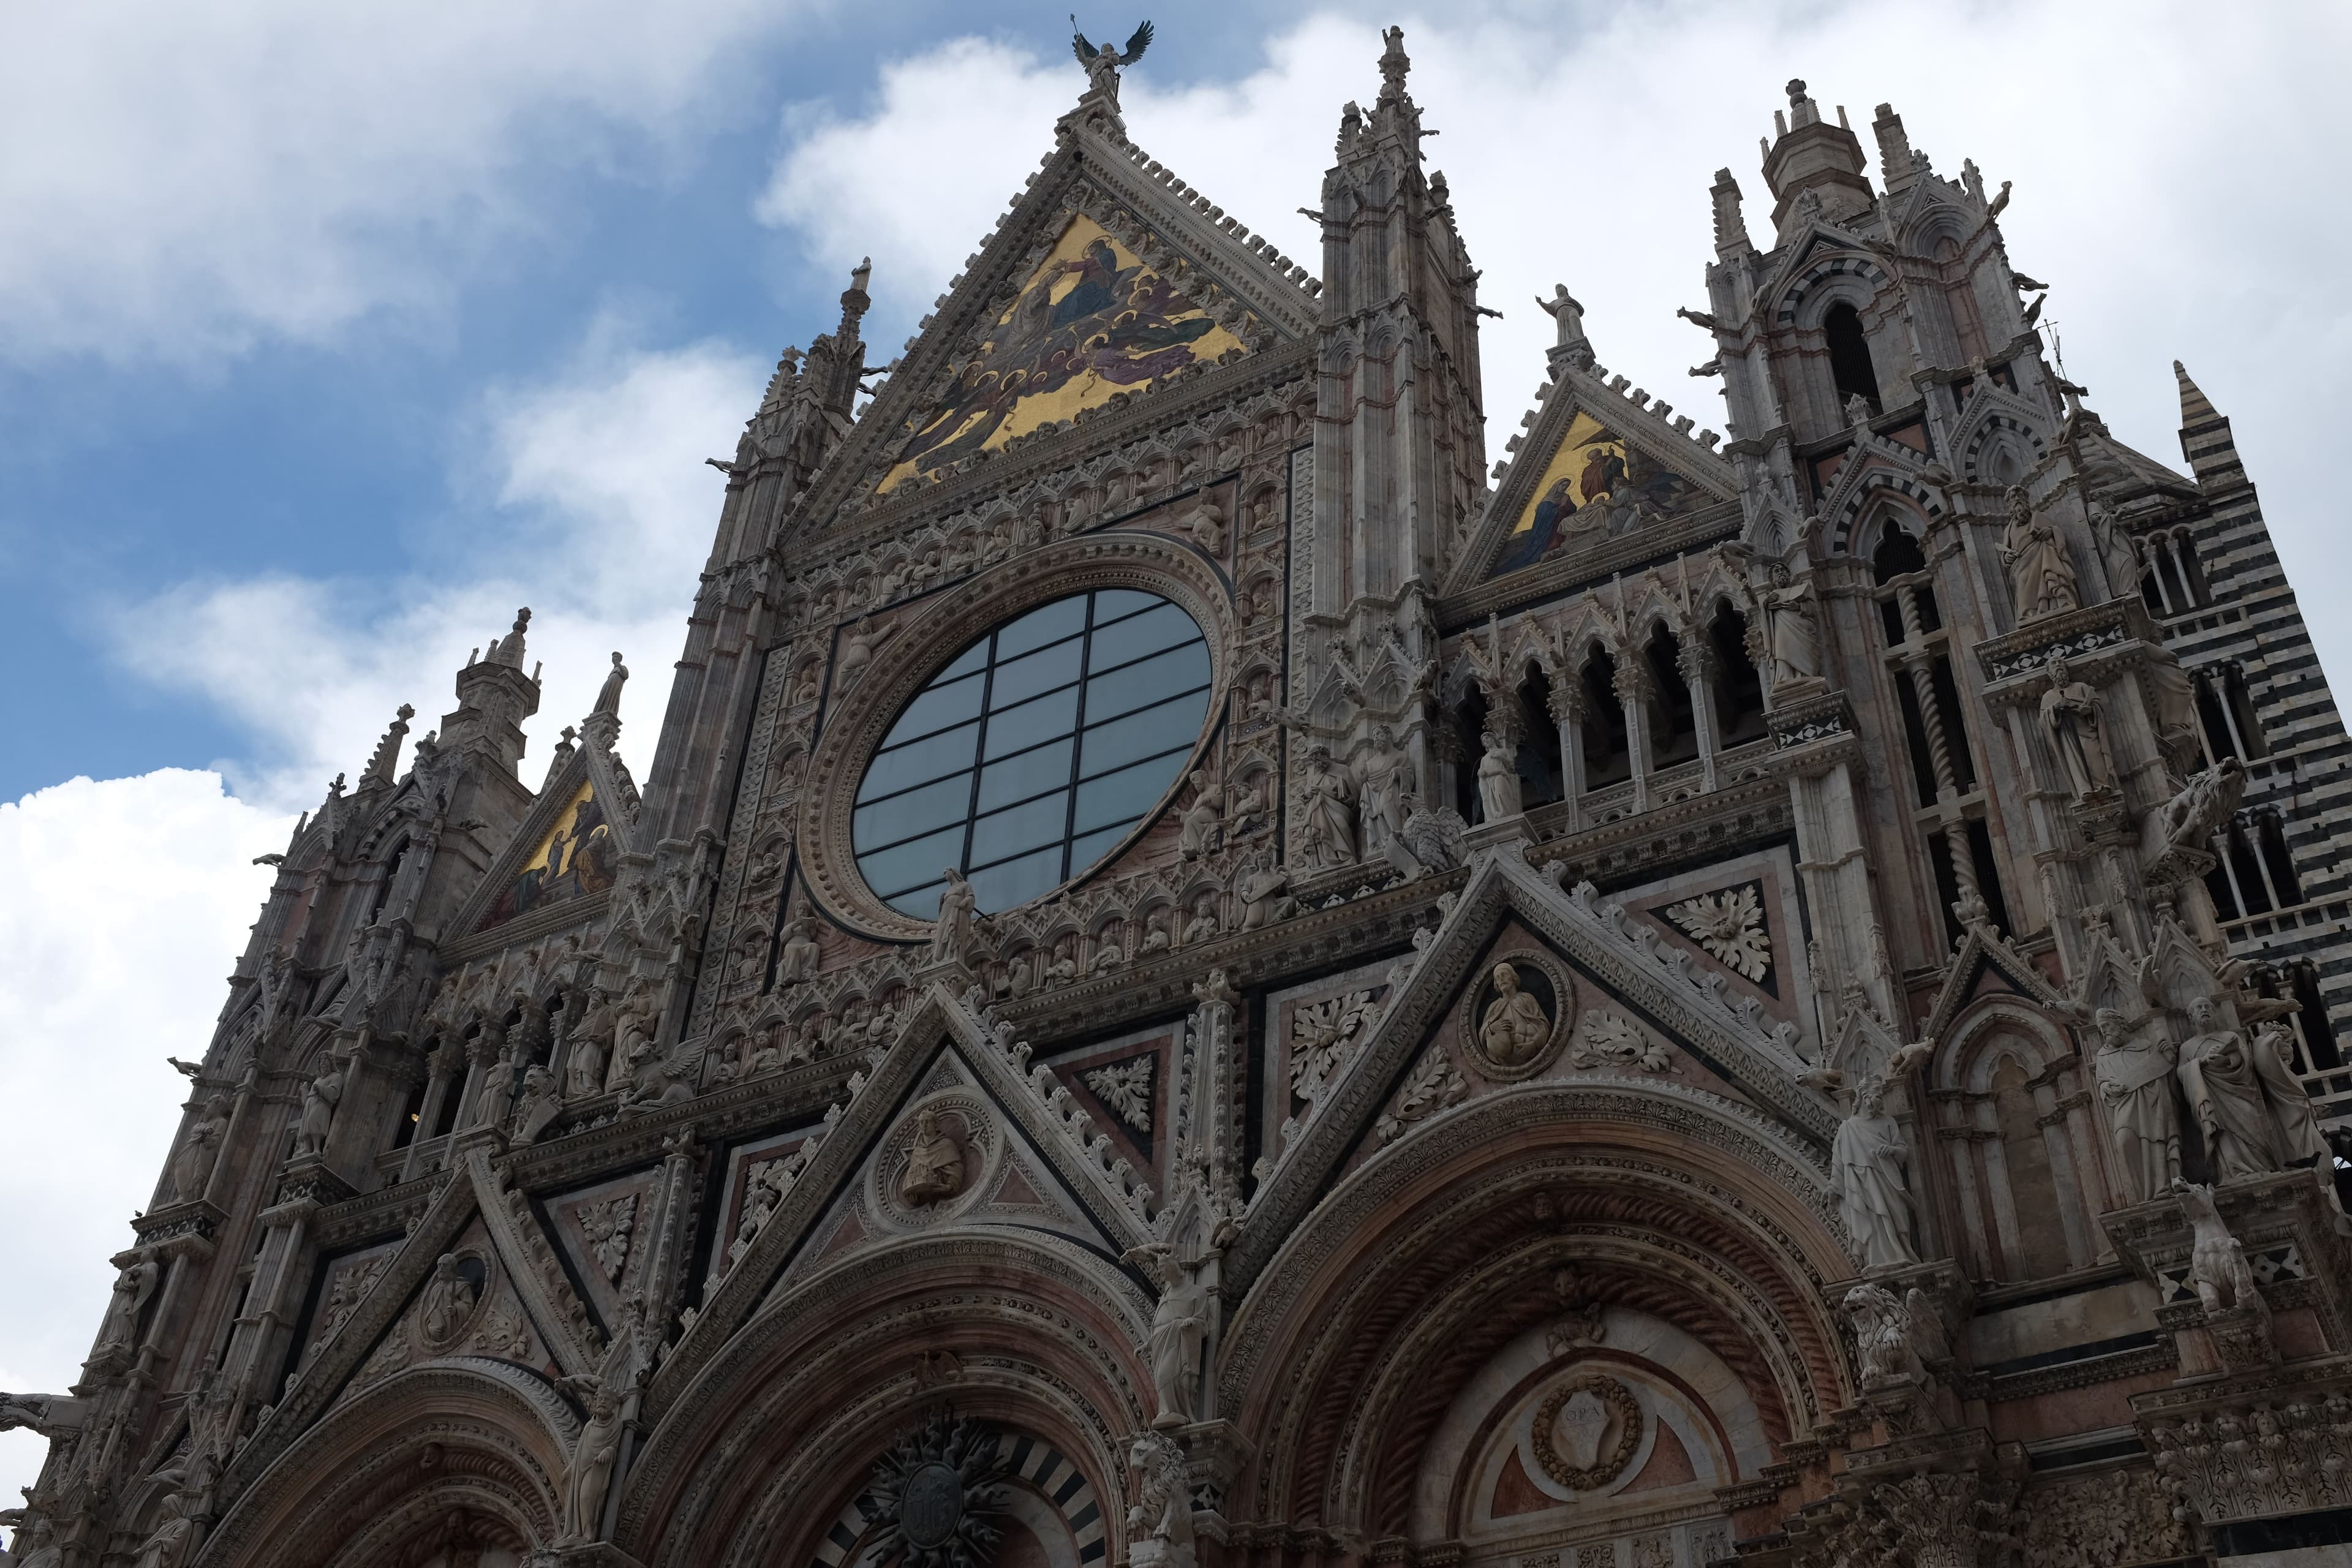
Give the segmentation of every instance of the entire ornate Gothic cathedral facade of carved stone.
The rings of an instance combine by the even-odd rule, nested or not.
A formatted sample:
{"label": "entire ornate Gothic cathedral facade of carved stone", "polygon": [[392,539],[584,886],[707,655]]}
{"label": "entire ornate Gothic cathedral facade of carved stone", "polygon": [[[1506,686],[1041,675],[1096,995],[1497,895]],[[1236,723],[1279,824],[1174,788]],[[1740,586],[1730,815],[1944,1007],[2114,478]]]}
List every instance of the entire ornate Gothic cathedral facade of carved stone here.
{"label": "entire ornate Gothic cathedral facade of carved stone", "polygon": [[296,827],[9,1561],[2345,1561],[2345,733],[2227,421],[2117,442],[2009,188],[1792,82],[1726,435],[1559,289],[1489,454],[1402,35],[1312,266],[1148,40],[880,383],[863,268],[786,353],[642,785],[619,654],[522,778],[524,611]]}

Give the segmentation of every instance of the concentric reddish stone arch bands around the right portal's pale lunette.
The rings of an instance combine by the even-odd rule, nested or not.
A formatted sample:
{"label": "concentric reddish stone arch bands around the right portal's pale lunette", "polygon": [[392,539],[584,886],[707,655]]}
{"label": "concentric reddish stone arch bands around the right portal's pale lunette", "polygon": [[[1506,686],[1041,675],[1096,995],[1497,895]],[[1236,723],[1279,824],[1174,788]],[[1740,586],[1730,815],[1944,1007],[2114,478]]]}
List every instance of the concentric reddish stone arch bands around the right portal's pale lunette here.
{"label": "concentric reddish stone arch bands around the right portal's pale lunette", "polygon": [[1237,1516],[1392,1535],[1463,1380],[1559,1312],[1557,1269],[1736,1368],[1785,1443],[1851,1399],[1818,1173],[1729,1103],[1606,1079],[1503,1091],[1350,1173],[1242,1305],[1221,1410],[1263,1434]]}

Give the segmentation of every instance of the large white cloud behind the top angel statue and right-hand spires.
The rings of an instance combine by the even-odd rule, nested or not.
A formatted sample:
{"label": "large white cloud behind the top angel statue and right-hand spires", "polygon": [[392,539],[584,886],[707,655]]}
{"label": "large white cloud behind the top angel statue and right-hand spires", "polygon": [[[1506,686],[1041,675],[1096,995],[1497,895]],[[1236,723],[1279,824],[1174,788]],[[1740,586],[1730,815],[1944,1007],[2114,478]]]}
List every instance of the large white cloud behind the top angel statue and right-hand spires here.
{"label": "large white cloud behind the top angel statue and right-hand spires", "polygon": [[[2298,5],[2216,28],[2187,5],[1806,7],[1630,5],[1592,19],[1446,12],[1406,19],[1411,89],[1444,169],[1486,322],[1489,449],[1543,374],[1550,322],[1534,296],[1566,282],[1604,364],[1722,428],[1710,357],[1675,306],[1705,303],[1708,186],[1731,167],[1769,242],[1757,136],[1802,75],[1865,148],[1879,101],[1957,174],[2016,181],[2002,219],[2016,266],[2056,284],[2067,369],[2117,435],[2178,463],[2171,360],[2234,416],[2288,571],[2317,588],[2352,571],[2333,517],[2333,367],[2352,348],[2336,259],[2352,214],[2314,202],[2352,143],[2352,12]],[[1378,28],[1317,14],[1268,42],[1265,66],[1202,87],[1124,85],[1129,134],[1240,221],[1319,270],[1294,207],[1315,205],[1338,106],[1371,101]],[[1933,61],[1931,68],[1922,68]],[[880,71],[851,118],[797,108],[760,216],[818,259],[875,254],[873,339],[913,327],[962,270],[1042,153],[1082,78],[1061,59],[978,40]],[[978,110],[974,106],[981,106]],[[983,120],[974,129],[971,115]],[[955,176],[936,169],[955,148]],[[2314,623],[2352,677],[2352,628]]]}

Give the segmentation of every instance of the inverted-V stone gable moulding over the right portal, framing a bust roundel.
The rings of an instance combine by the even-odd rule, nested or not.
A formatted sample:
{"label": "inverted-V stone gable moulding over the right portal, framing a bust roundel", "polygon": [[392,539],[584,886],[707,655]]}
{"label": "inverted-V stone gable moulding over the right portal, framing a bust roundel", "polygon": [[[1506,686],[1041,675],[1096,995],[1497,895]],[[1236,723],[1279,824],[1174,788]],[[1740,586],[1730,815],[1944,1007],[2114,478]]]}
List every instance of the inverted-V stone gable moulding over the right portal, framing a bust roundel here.
{"label": "inverted-V stone gable moulding over the right portal, framing a bust roundel", "polygon": [[1312,1119],[1272,1157],[1242,1241],[1228,1258],[1228,1281],[1247,1288],[1338,1178],[1508,917],[1646,1013],[1663,1034],[1736,1084],[1764,1117],[1790,1128],[1792,1147],[1809,1150],[1804,1159],[1823,1164],[1837,1117],[1818,1088],[1799,1081],[1809,1063],[1797,1053],[1795,1025],[1766,1025],[1752,997],[1733,997],[1724,976],[1696,971],[1686,950],[1663,947],[1653,926],[1602,903],[1590,884],[1562,891],[1552,877],[1531,870],[1517,846],[1498,846],[1472,858],[1470,879],[1437,938],[1385,999],[1367,1041],[1336,1070]]}

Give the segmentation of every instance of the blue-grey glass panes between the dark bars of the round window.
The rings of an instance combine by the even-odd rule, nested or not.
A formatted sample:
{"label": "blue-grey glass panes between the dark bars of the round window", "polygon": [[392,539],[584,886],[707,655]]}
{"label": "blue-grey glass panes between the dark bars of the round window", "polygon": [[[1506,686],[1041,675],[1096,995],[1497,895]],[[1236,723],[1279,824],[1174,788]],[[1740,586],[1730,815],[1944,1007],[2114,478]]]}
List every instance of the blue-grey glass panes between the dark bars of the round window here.
{"label": "blue-grey glass panes between the dark bars of the round window", "polygon": [[[1077,595],[1073,595],[1073,597],[1077,597]],[[1096,621],[1096,614],[1103,607],[1105,597],[1112,597],[1115,604],[1134,604],[1134,607],[1131,609],[1120,609],[1117,616],[1108,616],[1103,621]],[[1131,705],[1131,708],[1120,708],[1120,710],[1112,710],[1112,712],[1087,712],[1089,682],[1094,677],[1117,675],[1120,670],[1127,670],[1131,665],[1138,665],[1138,663],[1145,663],[1145,661],[1152,661],[1152,658],[1167,658],[1169,663],[1178,663],[1178,661],[1171,658],[1174,654],[1178,654],[1183,649],[1190,649],[1190,646],[1207,649],[1207,639],[1202,637],[1200,625],[1190,623],[1190,616],[1183,616],[1181,607],[1176,607],[1169,599],[1157,599],[1157,597],[1152,597],[1150,602],[1136,604],[1138,597],[1141,595],[1134,595],[1131,590],[1096,590],[1096,592],[1084,595],[1084,604],[1077,611],[1075,630],[1063,632],[1058,637],[1051,637],[1051,642],[1016,639],[1018,646],[1014,646],[1014,649],[1004,646],[1004,632],[1009,632],[1014,628],[1021,628],[1021,625],[1025,625],[1025,623],[1030,623],[1035,618],[1042,618],[1044,609],[1054,609],[1054,607],[1040,607],[1037,611],[1028,611],[1023,616],[1016,616],[1014,621],[995,628],[981,642],[971,644],[971,649],[967,649],[964,654],[960,654],[946,670],[941,670],[941,675],[934,675],[931,682],[938,684],[938,686],[948,684],[948,682],[941,679],[943,675],[948,675],[948,670],[960,670],[957,679],[969,679],[971,675],[978,675],[978,679],[981,679],[981,705],[978,705],[978,733],[974,736],[974,762],[978,766],[974,766],[974,764],[955,766],[955,769],[943,771],[936,778],[924,778],[924,780],[917,780],[917,783],[901,785],[901,788],[891,790],[889,795],[877,795],[877,797],[870,797],[870,799],[858,799],[858,813],[863,816],[868,809],[873,809],[877,804],[884,804],[884,802],[889,802],[894,797],[910,795],[915,790],[934,790],[941,783],[957,780],[957,778],[969,778],[971,780],[971,797],[969,797],[969,809],[967,809],[964,823],[962,823],[964,835],[962,835],[962,856],[957,858],[957,867],[964,870],[967,875],[976,875],[976,872],[1004,872],[1004,867],[1011,867],[1011,865],[1018,863],[1021,865],[1021,875],[1016,879],[1007,882],[1007,877],[1000,875],[1000,877],[990,877],[990,882],[1004,882],[1007,889],[1011,889],[1016,884],[1021,889],[1025,889],[1011,903],[995,903],[990,898],[983,898],[983,907],[988,912],[1014,907],[1018,903],[1028,903],[1030,898],[1042,896],[1051,886],[1058,886],[1061,882],[1068,882],[1073,867],[1084,870],[1087,865],[1094,865],[1094,860],[1098,860],[1103,853],[1108,853],[1115,846],[1117,839],[1122,839],[1127,832],[1131,832],[1143,820],[1145,813],[1129,816],[1127,820],[1120,820],[1120,823],[1105,823],[1105,825],[1089,823],[1084,830],[1080,830],[1080,825],[1077,825],[1077,816],[1080,816],[1080,792],[1077,792],[1077,785],[1082,785],[1082,783],[1096,783],[1096,780],[1101,780],[1101,778],[1105,778],[1110,773],[1120,773],[1120,771],[1129,771],[1129,769],[1141,771],[1141,769],[1145,769],[1145,766],[1150,766],[1155,762],[1167,762],[1169,757],[1183,757],[1197,743],[1197,733],[1190,736],[1183,745],[1174,745],[1174,748],[1167,748],[1167,750],[1160,750],[1160,752],[1152,752],[1152,755],[1145,755],[1145,757],[1136,757],[1136,755],[1127,755],[1127,752],[1117,752],[1115,750],[1108,762],[1098,759],[1098,764],[1091,766],[1091,769],[1089,769],[1089,759],[1087,759],[1087,743],[1089,743],[1089,738],[1094,738],[1094,733],[1101,731],[1108,724],[1115,724],[1120,719],[1131,719],[1136,715],[1155,712],[1155,710],[1162,710],[1162,708],[1167,708],[1167,710],[1190,708],[1192,712],[1188,717],[1192,719],[1190,729],[1195,729],[1195,731],[1197,731],[1200,722],[1204,722],[1204,717],[1207,717],[1207,712],[1204,712],[1207,710],[1207,701],[1204,698],[1207,698],[1207,691],[1209,691],[1209,682],[1202,682],[1197,686],[1185,686],[1181,691],[1157,691],[1157,693],[1150,693],[1150,701],[1143,701],[1143,703]],[[1136,621],[1138,616],[1155,616],[1155,614],[1164,614],[1164,611],[1174,611],[1176,616],[1183,616],[1183,621],[1190,623],[1190,635],[1178,635],[1178,639],[1171,642],[1171,644],[1167,644],[1167,646],[1145,646],[1145,651],[1141,651],[1141,654],[1122,656],[1120,663],[1115,663],[1115,665],[1091,668],[1094,642],[1096,642],[1098,632],[1103,632],[1108,628],[1117,628],[1117,625],[1122,625],[1127,621]],[[1049,628],[1040,628],[1040,630],[1054,630],[1054,628],[1049,625]],[[1035,637],[1035,632],[1030,632],[1030,637]],[[1037,656],[1037,654],[1042,654],[1047,649],[1068,644],[1073,639],[1077,642],[1077,656],[1080,658],[1077,658],[1077,672],[1075,672],[1075,677],[1070,682],[1063,682],[1063,684],[1051,686],[1047,691],[1033,691],[1033,689],[1016,686],[1016,693],[1011,696],[1011,701],[1002,703],[1002,712],[1007,712],[1007,715],[1011,715],[1011,712],[1016,712],[1021,708],[1035,705],[1035,708],[1030,708],[1030,712],[1042,719],[1044,717],[1042,710],[1047,708],[1047,703],[1042,703],[1040,698],[1068,696],[1070,705],[1073,705],[1073,712],[1068,715],[1065,726],[1056,726],[1054,733],[1044,733],[1037,741],[1028,741],[1025,736],[1021,736],[1018,750],[1004,752],[1002,757],[993,757],[988,752],[988,745],[990,745],[990,729],[995,729],[995,719],[1000,717],[1000,703],[997,703],[997,689],[995,689],[997,670],[1002,665],[1007,665],[1007,663],[1028,661],[1028,658],[1033,658],[1033,656]],[[1127,654],[1127,649],[1115,649],[1115,651]],[[974,656],[978,656],[976,665],[971,663]],[[920,691],[908,703],[908,708],[913,708],[924,696],[929,696],[934,691],[934,684],[927,684],[924,691]],[[1202,701],[1195,705],[1190,698],[1202,698]],[[903,724],[906,715],[901,715],[898,722]],[[962,729],[967,724],[974,724],[974,719],[964,717],[960,724],[948,724],[941,731],[927,731],[927,733],[920,733],[920,736],[903,736],[901,738],[901,736],[891,733],[891,743],[894,745],[882,748],[882,750],[875,752],[875,762],[868,764],[868,773],[873,771],[873,766],[877,762],[884,759],[884,752],[898,750],[903,745],[913,745],[913,743],[920,743],[920,741],[931,741],[931,738],[936,738],[936,736],[941,736],[946,731]],[[1004,736],[1004,738],[1014,738],[1014,736]],[[1054,748],[1054,745],[1068,745],[1070,748],[1070,771],[1068,771],[1068,776],[1061,776],[1061,778],[1054,778],[1051,783],[1047,783],[1047,773],[1040,771],[1040,776],[1037,776],[1035,783],[1040,783],[1042,788],[1035,790],[1033,795],[1023,795],[1018,799],[990,799],[985,804],[985,809],[981,806],[983,773],[1002,769],[1004,762],[1014,762],[1018,757],[1035,755],[1035,752],[1042,752],[1042,750]],[[1129,741],[1129,745],[1131,745],[1131,741]],[[1162,785],[1162,792],[1164,792],[1164,788],[1167,785]],[[1002,851],[1002,853],[990,853],[990,858],[974,863],[974,851],[981,849],[978,839],[985,832],[985,820],[983,818],[1011,820],[1014,811],[1025,809],[1025,806],[1035,806],[1035,804],[1040,804],[1044,799],[1051,799],[1056,795],[1063,799],[1063,823],[1061,823],[1061,835],[1058,835],[1061,842],[1058,844],[1054,844],[1054,842],[1047,842],[1047,844],[1021,844],[1021,846],[995,844],[993,849]],[[898,839],[891,839],[889,844],[868,844],[868,846],[861,846],[858,849],[861,870],[863,870],[863,860],[868,856],[875,856],[875,853],[887,851],[887,849],[898,849],[903,844],[910,844],[910,842],[917,842],[917,839],[927,839],[927,837],[934,837],[934,835],[943,837],[946,827],[948,827],[946,823],[938,823],[938,825],[931,825],[927,830],[917,827],[915,832],[901,835]],[[1047,867],[1047,860],[1054,860],[1054,865]],[[1040,884],[1035,889],[1028,889],[1028,884],[1037,875],[1044,875],[1047,870],[1051,870],[1054,875],[1044,884]],[[906,889],[898,889],[898,891],[891,891],[891,893],[882,893],[882,898],[884,898],[884,903],[898,903],[898,900],[906,900],[910,896],[917,896],[915,900],[920,905],[924,905],[924,910],[927,910],[922,917],[929,919],[929,914],[936,912],[936,896],[931,896],[931,898],[920,898],[920,896],[922,893],[934,893],[938,886],[941,886],[938,877],[929,877],[927,882],[922,882],[917,886],[906,886]]]}

